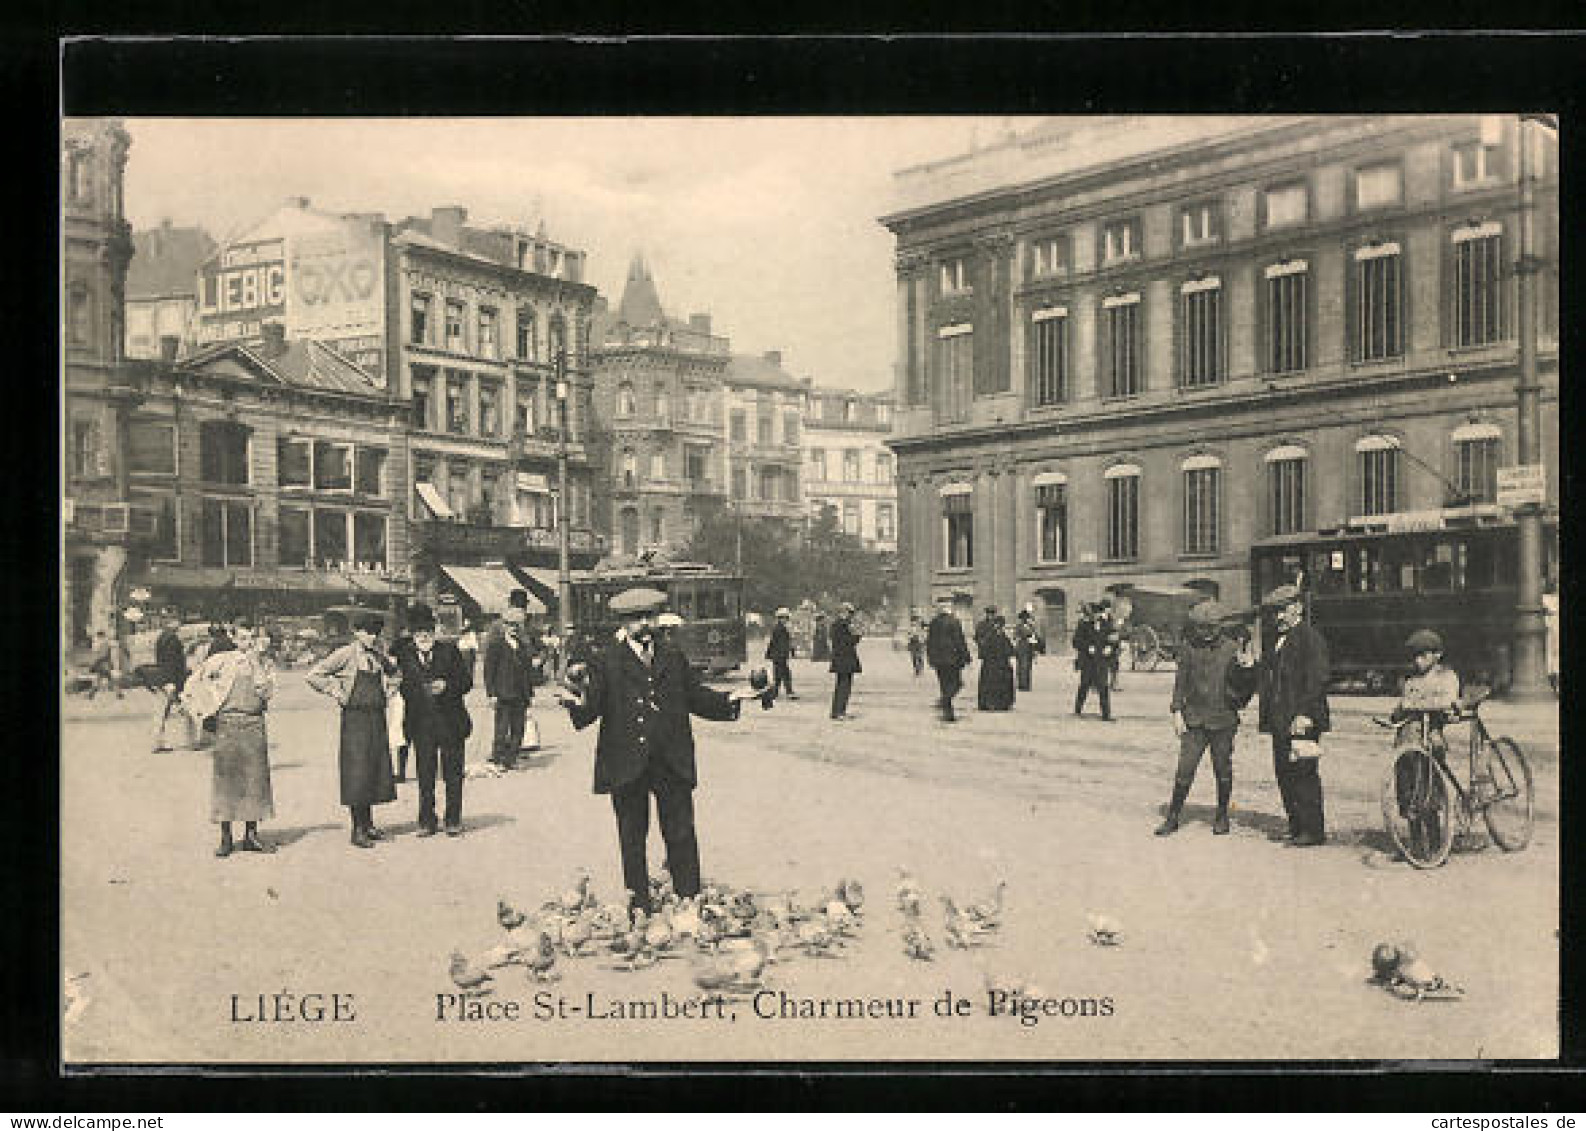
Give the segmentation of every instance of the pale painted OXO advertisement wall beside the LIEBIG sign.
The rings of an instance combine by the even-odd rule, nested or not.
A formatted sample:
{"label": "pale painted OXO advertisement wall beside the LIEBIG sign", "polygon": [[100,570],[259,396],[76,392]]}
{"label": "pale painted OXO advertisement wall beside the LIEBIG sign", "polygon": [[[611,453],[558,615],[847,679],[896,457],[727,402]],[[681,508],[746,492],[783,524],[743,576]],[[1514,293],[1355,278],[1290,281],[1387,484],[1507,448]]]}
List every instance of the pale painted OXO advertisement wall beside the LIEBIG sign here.
{"label": "pale painted OXO advertisement wall beside the LIEBIG sign", "polygon": [[385,384],[385,244],[363,220],[298,232],[290,243],[287,336],[312,338]]}

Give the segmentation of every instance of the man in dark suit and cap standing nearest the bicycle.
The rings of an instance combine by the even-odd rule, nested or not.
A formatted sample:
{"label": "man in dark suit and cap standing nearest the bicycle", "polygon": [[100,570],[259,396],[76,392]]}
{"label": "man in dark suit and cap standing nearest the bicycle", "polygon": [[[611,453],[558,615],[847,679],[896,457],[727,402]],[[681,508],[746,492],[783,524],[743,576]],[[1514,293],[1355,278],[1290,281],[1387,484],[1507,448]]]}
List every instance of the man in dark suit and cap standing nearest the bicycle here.
{"label": "man in dark suit and cap standing nearest the bicycle", "polygon": [[1305,620],[1294,585],[1267,593],[1274,639],[1261,660],[1259,723],[1272,736],[1272,768],[1288,814],[1288,839],[1313,847],[1327,839],[1318,773],[1318,739],[1332,728],[1327,709],[1327,641]]}

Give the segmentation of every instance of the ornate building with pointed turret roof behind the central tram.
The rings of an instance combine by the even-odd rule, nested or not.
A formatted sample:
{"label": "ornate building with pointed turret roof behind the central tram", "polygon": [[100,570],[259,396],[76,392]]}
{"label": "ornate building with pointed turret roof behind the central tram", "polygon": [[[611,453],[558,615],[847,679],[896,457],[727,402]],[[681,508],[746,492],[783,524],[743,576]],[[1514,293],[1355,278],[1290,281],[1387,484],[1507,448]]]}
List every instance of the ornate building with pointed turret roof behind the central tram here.
{"label": "ornate building with pointed turret roof behind the central tram", "polygon": [[596,514],[625,557],[679,554],[726,495],[723,374],[731,344],[709,314],[668,317],[634,255],[615,311],[596,311]]}

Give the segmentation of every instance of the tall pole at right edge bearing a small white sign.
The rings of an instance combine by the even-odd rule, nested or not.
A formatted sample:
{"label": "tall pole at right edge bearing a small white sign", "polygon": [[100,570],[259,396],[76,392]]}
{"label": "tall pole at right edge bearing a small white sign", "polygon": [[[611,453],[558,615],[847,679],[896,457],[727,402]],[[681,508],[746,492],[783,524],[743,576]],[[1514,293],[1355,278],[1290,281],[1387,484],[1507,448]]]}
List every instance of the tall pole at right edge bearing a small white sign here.
{"label": "tall pole at right edge bearing a small white sign", "polygon": [[[1537,378],[1537,170],[1532,146],[1532,114],[1519,116],[1519,384],[1516,387],[1519,463],[1542,463],[1542,382]],[[1546,681],[1546,622],[1542,611],[1542,509],[1543,501],[1523,503],[1515,511],[1519,533],[1519,593],[1515,601],[1515,663],[1510,698],[1553,698]]]}

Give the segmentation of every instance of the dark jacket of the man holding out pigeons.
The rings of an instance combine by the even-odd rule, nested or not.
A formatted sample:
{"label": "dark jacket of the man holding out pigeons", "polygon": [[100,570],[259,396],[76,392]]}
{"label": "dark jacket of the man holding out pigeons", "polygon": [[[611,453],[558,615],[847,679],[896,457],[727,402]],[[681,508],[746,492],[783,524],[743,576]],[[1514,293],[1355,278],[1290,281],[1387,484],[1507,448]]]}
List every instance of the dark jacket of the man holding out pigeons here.
{"label": "dark jacket of the man holding out pigeons", "polygon": [[726,722],[737,704],[699,682],[680,649],[657,642],[647,668],[628,641],[617,639],[590,657],[584,704],[569,706],[577,730],[600,720],[595,741],[595,792],[611,793],[638,779],[652,760],[674,779],[698,784],[688,715]]}

